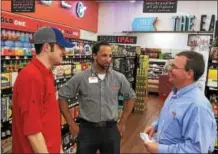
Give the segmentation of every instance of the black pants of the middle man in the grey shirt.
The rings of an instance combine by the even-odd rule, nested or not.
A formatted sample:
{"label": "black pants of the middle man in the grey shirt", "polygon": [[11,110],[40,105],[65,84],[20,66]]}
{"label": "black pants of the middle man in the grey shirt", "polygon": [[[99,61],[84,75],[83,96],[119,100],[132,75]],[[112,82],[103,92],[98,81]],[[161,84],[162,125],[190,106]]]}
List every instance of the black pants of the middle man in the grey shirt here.
{"label": "black pants of the middle man in the grey shirt", "polygon": [[87,121],[80,121],[80,130],[77,140],[77,154],[120,153],[120,132],[116,123],[106,126],[93,126]]}

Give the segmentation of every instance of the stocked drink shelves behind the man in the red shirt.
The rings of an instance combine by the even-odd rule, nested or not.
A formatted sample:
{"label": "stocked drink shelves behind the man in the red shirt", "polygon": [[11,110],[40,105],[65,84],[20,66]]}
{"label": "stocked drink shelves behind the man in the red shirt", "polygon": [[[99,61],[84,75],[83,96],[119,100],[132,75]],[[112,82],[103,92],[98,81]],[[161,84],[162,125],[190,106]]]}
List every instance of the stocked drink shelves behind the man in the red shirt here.
{"label": "stocked drink shelves behind the man in the red shirt", "polygon": [[[3,15],[5,15],[3,13]],[[7,16],[15,19],[16,15],[7,14]],[[20,18],[18,16],[18,18]],[[24,17],[22,17],[25,20]],[[34,23],[39,23],[41,26],[50,26],[56,28],[65,28],[55,24],[46,24],[41,21],[32,19]],[[25,67],[35,56],[33,44],[33,33],[37,27],[21,28],[16,25],[7,23],[2,24],[1,29],[1,152],[9,153],[12,148],[12,93],[13,85],[19,71]],[[40,27],[41,27],[40,26]],[[70,31],[70,28],[66,28]],[[63,64],[54,67],[52,70],[55,77],[55,86],[58,90],[63,86],[75,73],[84,71],[90,68],[92,59],[91,47],[94,41],[81,40],[74,38],[75,36],[66,34],[65,38],[69,39],[74,44],[73,48],[66,49],[67,54],[63,57]],[[77,120],[79,115],[79,102],[77,97],[68,100],[69,108],[74,120]],[[61,115],[61,130],[62,143],[65,153],[72,153],[73,140],[69,133],[69,127]]]}

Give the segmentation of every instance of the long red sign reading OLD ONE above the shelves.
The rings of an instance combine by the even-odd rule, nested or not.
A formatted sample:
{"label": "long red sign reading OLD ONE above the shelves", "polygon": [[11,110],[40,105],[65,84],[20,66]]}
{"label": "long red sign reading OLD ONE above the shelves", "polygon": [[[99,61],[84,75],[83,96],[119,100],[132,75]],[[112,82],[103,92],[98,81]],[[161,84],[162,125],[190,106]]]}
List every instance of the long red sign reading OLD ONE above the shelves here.
{"label": "long red sign reading OLD ONE above the shelves", "polygon": [[62,26],[46,21],[36,20],[13,13],[1,11],[1,24],[2,28],[13,29],[19,31],[35,32],[38,28],[43,26],[52,26],[62,31],[63,35],[67,38],[80,38],[80,30]]}

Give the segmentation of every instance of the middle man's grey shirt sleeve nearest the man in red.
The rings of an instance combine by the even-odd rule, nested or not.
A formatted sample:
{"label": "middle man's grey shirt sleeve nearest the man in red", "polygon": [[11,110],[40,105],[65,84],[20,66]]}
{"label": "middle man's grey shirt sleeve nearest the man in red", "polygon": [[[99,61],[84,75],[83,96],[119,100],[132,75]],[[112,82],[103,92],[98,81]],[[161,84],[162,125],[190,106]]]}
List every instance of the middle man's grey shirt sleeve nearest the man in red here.
{"label": "middle man's grey shirt sleeve nearest the man in red", "polygon": [[67,100],[76,97],[81,77],[76,74],[69,81],[67,81],[63,87],[58,90],[58,98]]}

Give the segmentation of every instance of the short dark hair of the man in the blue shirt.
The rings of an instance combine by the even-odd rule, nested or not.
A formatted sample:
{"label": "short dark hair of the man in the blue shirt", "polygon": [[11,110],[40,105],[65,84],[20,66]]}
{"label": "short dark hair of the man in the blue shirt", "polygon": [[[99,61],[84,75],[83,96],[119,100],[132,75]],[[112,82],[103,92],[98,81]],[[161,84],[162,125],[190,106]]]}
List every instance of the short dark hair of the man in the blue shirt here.
{"label": "short dark hair of the man in the blue shirt", "polygon": [[204,57],[195,51],[182,51],[177,56],[185,56],[187,58],[185,69],[194,72],[194,81],[197,81],[203,74],[205,69]]}

